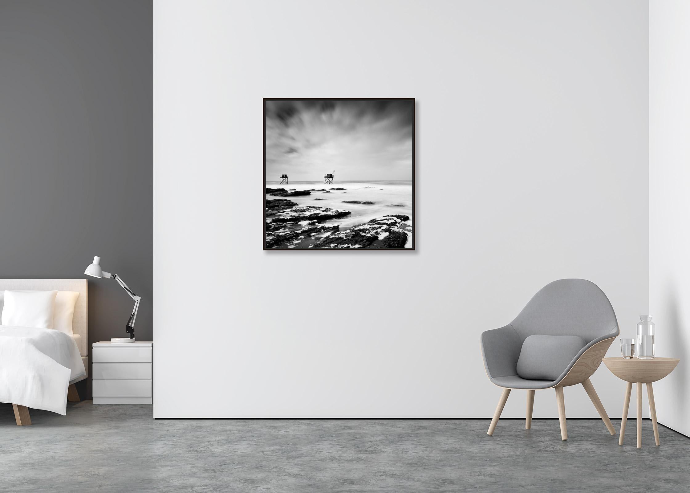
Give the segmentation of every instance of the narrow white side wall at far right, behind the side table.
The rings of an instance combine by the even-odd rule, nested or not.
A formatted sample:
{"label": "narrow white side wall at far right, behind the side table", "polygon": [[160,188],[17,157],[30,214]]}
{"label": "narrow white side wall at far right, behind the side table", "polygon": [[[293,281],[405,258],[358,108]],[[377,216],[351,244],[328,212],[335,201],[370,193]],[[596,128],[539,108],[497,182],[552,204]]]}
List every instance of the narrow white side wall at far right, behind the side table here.
{"label": "narrow white side wall at far right, behind the side table", "polygon": [[656,353],[680,358],[654,384],[660,423],[690,435],[690,2],[649,3],[649,307]]}

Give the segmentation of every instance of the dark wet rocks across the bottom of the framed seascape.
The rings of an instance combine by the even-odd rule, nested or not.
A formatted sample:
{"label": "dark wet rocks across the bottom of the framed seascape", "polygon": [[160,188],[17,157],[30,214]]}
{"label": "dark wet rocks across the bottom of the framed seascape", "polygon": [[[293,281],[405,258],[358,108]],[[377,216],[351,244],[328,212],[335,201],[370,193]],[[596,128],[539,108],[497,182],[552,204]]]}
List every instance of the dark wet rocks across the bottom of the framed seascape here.
{"label": "dark wet rocks across the bottom of the framed seascape", "polygon": [[[370,188],[370,187],[366,187]],[[346,189],[333,188],[344,191]],[[311,192],[330,193],[325,189],[266,189],[274,197],[311,195]],[[318,198],[315,200],[319,200]],[[375,204],[370,201],[342,201],[344,204]],[[398,204],[391,204],[397,206]],[[383,215],[341,231],[332,222],[351,215],[351,211],[316,205],[299,205],[287,198],[266,198],[266,247],[268,248],[328,248],[377,249],[404,248],[412,235],[408,215]],[[370,216],[371,217],[371,216]],[[324,224],[328,222],[328,224]]]}

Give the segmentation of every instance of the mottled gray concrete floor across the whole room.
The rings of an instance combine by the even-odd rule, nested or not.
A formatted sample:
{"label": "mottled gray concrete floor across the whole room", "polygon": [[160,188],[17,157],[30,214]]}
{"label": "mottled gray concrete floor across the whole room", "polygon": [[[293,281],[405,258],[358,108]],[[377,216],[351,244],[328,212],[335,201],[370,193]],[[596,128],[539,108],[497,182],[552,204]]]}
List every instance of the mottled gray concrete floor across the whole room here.
{"label": "mottled gray concrete floor across the whole room", "polygon": [[[68,404],[14,425],[0,404],[1,492],[687,492],[690,438],[643,421],[154,420],[152,406]],[[613,421],[616,430],[620,420]]]}

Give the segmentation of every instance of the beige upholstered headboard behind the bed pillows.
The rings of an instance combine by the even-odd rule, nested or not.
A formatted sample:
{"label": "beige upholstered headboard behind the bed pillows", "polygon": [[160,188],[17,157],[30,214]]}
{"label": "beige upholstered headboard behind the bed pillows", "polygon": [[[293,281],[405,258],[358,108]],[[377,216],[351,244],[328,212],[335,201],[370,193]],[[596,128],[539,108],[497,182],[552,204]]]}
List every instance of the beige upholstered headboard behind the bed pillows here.
{"label": "beige upholstered headboard behind the bed pillows", "polygon": [[77,291],[72,331],[80,336],[79,353],[88,356],[88,283],[86,279],[0,279],[0,291]]}

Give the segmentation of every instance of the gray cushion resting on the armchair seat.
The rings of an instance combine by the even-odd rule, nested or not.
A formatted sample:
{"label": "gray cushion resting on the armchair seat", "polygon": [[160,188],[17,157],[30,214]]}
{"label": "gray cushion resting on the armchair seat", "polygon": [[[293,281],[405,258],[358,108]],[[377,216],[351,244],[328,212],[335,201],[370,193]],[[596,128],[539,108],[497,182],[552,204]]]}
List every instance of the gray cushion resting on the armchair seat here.
{"label": "gray cushion resting on the armchair seat", "polygon": [[517,374],[529,380],[555,380],[585,344],[578,336],[529,336],[522,342]]}

